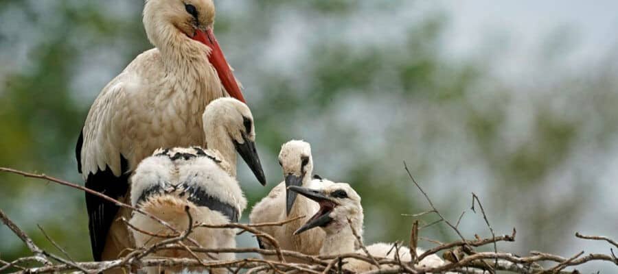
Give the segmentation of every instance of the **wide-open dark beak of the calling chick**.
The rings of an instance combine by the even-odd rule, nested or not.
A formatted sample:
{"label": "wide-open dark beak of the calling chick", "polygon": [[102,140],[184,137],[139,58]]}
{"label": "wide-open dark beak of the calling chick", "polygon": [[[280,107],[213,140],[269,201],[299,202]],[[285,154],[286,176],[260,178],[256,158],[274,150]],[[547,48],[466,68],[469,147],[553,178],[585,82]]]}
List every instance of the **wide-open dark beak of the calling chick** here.
{"label": "wide-open dark beak of the calling chick", "polygon": [[320,204],[320,210],[318,210],[318,212],[314,214],[311,219],[307,221],[307,223],[295,231],[294,235],[301,234],[314,227],[325,227],[332,222],[332,218],[328,215],[330,215],[330,212],[332,212],[332,210],[337,206],[337,203],[332,201],[328,196],[324,195],[323,192],[300,186],[290,186],[288,187],[288,190],[297,192],[300,195],[312,199],[313,201],[317,201],[317,203]]}

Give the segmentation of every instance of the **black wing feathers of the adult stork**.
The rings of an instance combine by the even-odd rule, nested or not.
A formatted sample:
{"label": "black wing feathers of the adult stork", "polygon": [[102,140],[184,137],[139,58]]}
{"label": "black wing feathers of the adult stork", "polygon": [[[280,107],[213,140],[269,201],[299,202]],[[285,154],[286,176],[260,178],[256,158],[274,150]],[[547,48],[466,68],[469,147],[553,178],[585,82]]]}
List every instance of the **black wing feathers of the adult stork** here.
{"label": "black wing feathers of the adult stork", "polygon": [[[128,172],[128,161],[122,155],[119,155],[119,157],[122,166],[122,175],[120,177],[116,177],[111,169],[106,166],[104,171],[99,169],[96,173],[89,173],[86,179],[86,187],[114,199],[119,199],[126,195],[128,177],[130,175]],[[90,232],[92,256],[95,261],[100,261],[102,260],[101,256],[105,247],[107,233],[120,208],[115,203],[89,193],[86,193],[86,208],[88,211],[88,229]]]}

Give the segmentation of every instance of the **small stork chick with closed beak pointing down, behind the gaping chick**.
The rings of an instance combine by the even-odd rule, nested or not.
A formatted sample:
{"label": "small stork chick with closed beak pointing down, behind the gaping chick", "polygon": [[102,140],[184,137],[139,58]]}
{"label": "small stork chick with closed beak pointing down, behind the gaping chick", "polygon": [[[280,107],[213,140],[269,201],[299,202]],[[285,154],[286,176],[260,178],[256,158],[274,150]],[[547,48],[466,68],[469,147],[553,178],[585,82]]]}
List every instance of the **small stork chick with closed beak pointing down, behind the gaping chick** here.
{"label": "small stork chick with closed beak pointing down, behind the gaping chick", "polygon": [[[324,232],[314,229],[298,236],[295,236],[294,232],[319,210],[319,206],[306,197],[297,197],[297,192],[287,189],[289,186],[317,188],[325,184],[320,177],[312,178],[311,146],[302,140],[286,142],[279,152],[279,164],[283,169],[284,182],[275,186],[268,196],[253,207],[249,214],[249,222],[271,223],[285,221],[296,216],[305,216],[281,226],[261,227],[260,230],[275,237],[282,249],[317,255],[322,247]],[[258,244],[264,249],[271,248],[259,238]],[[294,258],[286,258],[286,260],[295,262]]]}

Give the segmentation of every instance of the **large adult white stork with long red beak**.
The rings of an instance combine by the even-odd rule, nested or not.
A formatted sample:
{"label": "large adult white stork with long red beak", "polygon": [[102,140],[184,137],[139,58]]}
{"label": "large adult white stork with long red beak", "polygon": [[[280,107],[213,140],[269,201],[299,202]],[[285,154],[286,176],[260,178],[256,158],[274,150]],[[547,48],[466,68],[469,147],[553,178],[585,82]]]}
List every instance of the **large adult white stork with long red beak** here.
{"label": "large adult white stork with long red beak", "polygon": [[[155,49],[103,88],[78,138],[78,171],[87,188],[128,201],[127,180],[142,159],[160,147],[205,146],[205,106],[228,95],[244,102],[214,36],[214,17],[212,0],[146,1],[143,22]],[[265,184],[261,169],[248,164]],[[95,260],[132,247],[126,225],[117,221],[128,210],[89,194],[86,206]]]}

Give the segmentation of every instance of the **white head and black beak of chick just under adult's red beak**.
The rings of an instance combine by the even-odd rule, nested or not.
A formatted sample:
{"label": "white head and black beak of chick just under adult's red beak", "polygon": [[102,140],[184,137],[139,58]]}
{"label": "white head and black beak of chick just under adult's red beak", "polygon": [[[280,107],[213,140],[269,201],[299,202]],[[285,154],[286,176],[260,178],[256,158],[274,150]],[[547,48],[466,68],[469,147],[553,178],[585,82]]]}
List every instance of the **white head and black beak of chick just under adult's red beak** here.
{"label": "white head and black beak of chick just under adult's red beak", "polygon": [[[202,121],[207,146],[224,154],[224,151],[233,152],[236,149],[260,184],[265,185],[266,177],[255,149],[255,126],[249,107],[230,97],[215,99],[206,105]],[[233,161],[230,158],[226,160],[236,166],[235,157]]]}

